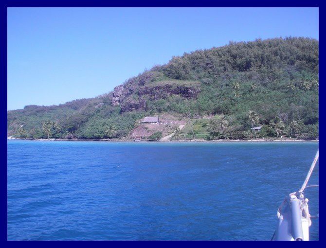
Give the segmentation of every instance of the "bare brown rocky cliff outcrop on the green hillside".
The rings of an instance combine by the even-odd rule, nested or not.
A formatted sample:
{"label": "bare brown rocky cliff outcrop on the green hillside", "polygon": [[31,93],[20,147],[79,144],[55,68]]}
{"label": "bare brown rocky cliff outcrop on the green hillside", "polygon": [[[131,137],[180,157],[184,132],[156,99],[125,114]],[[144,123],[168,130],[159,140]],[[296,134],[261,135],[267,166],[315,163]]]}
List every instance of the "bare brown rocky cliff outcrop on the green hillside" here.
{"label": "bare brown rocky cliff outcrop on the green hillside", "polygon": [[114,88],[111,106],[121,106],[123,112],[146,109],[146,101],[164,99],[171,95],[184,98],[196,98],[200,91],[200,83],[182,80],[157,80],[155,71],[144,73],[129,79],[125,84]]}

